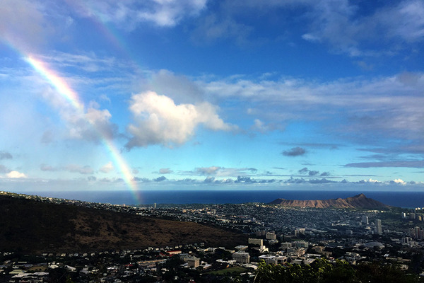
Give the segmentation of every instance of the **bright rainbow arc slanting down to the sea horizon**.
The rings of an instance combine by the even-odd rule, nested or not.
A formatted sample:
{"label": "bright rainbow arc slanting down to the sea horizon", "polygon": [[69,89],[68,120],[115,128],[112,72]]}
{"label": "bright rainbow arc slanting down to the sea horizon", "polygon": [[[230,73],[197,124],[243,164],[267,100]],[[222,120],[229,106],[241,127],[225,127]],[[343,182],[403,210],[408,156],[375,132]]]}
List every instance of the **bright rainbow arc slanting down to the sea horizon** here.
{"label": "bright rainbow arc slanting down to the sea horizon", "polygon": [[[75,108],[79,113],[84,113],[84,105],[81,102],[81,99],[78,96],[78,93],[73,91],[73,89],[66,83],[64,79],[62,79],[57,74],[54,74],[54,71],[49,69],[44,62],[41,62],[40,60],[37,60],[31,56],[28,56],[25,58],[26,62],[30,64],[37,73],[42,75],[56,90],[57,93],[59,93],[61,96],[66,98],[66,100],[71,103],[73,108]],[[88,121],[90,122],[90,121]],[[95,127],[94,127],[95,129]],[[102,135],[98,131],[99,136],[101,137],[102,144],[105,145],[107,148],[107,151],[109,152],[110,156],[113,159],[114,165],[119,168],[119,171],[121,171],[123,180],[126,183],[126,185],[131,190],[132,195],[134,196],[134,199],[141,203],[139,194],[138,194],[138,187],[137,183],[134,180],[134,176],[131,175],[131,170],[129,166],[126,164],[126,161],[122,157],[122,154],[120,154],[117,147],[110,141],[110,139],[107,139],[104,135]]]}

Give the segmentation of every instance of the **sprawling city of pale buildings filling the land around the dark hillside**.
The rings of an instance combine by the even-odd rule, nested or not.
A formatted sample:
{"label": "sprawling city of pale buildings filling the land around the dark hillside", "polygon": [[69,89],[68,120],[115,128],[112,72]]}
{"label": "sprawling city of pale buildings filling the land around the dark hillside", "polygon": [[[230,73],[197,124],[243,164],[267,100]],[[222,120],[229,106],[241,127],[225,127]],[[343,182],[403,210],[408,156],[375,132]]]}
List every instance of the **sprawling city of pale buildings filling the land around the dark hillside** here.
{"label": "sprawling city of pale buildings filling the land around the dark hillside", "polygon": [[239,231],[248,240],[232,248],[186,243],[139,250],[46,250],[40,255],[0,250],[0,282],[54,282],[55,277],[68,282],[208,282],[208,278],[254,282],[262,260],[274,265],[310,265],[317,258],[345,260],[350,265],[387,262],[424,276],[424,210],[420,208],[313,209],[262,203],[133,206],[13,195],[193,221]]}

